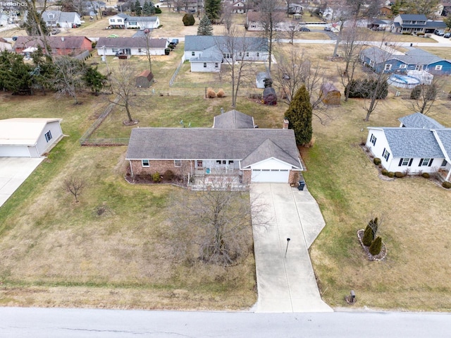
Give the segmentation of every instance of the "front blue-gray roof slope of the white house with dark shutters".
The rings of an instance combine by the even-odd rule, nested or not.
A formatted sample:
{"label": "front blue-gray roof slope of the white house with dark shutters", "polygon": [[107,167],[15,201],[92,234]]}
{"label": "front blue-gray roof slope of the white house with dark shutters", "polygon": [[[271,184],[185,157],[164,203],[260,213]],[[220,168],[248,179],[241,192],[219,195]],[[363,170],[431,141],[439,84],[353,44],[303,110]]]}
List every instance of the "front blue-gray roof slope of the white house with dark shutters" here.
{"label": "front blue-gray roof slope of the white house with dark shutters", "polygon": [[393,157],[444,158],[433,132],[422,128],[382,128]]}

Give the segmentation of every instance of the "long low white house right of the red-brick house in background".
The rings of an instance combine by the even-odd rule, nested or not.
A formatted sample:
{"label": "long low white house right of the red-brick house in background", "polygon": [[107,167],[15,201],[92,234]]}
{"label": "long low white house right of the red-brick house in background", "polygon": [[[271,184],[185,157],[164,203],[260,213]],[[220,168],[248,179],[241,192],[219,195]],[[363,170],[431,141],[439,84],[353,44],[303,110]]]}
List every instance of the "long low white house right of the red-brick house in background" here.
{"label": "long low white house right of the red-brick house in background", "polygon": [[147,42],[147,37],[100,37],[96,49],[99,56],[115,56],[116,53],[146,56],[147,47],[150,55],[164,55],[168,44],[167,39],[149,39]]}

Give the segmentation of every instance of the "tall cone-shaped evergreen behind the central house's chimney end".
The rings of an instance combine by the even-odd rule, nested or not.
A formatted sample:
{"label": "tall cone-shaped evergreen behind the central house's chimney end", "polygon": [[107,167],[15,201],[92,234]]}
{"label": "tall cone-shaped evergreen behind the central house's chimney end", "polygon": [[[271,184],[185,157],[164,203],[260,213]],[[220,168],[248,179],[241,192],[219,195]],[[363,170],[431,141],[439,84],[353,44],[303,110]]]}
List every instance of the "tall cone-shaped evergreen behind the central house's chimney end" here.
{"label": "tall cone-shaped evergreen behind the central house's chimney end", "polygon": [[285,112],[285,119],[289,121],[288,128],[295,131],[297,145],[306,145],[311,141],[312,110],[309,92],[305,85],[302,85]]}

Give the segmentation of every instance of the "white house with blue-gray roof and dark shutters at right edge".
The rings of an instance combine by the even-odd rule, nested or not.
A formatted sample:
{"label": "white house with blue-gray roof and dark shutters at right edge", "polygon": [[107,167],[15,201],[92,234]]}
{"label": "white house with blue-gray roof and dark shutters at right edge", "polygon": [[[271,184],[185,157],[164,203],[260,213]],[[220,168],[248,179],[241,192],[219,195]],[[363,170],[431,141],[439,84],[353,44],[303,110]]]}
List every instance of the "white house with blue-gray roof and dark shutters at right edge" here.
{"label": "white house with blue-gray roof and dark shutters at right edge", "polygon": [[368,127],[366,147],[388,171],[407,174],[445,172],[450,180],[451,128],[415,113],[400,119],[400,127]]}

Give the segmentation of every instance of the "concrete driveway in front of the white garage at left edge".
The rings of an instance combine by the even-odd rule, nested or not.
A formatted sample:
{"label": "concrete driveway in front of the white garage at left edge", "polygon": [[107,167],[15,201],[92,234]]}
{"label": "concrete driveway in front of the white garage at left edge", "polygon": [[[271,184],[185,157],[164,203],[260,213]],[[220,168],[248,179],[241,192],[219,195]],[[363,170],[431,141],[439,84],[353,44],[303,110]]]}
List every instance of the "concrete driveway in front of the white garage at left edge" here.
{"label": "concrete driveway in front of the white garage at left edge", "polygon": [[0,157],[0,207],[43,159],[44,157]]}

